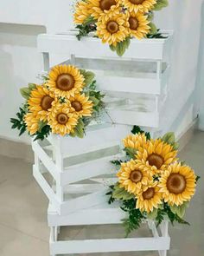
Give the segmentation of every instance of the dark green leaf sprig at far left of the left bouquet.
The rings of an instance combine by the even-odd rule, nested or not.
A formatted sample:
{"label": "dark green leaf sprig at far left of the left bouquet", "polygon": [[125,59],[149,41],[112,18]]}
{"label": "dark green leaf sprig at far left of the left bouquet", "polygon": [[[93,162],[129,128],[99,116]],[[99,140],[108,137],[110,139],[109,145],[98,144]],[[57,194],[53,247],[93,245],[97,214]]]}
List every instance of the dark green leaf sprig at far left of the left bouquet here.
{"label": "dark green leaf sprig at far left of the left bouquet", "polygon": [[10,122],[12,123],[12,129],[18,129],[19,136],[21,136],[26,131],[26,124],[24,122],[24,115],[26,114],[26,106],[23,108],[19,108],[19,112],[16,114],[17,118],[10,118]]}

